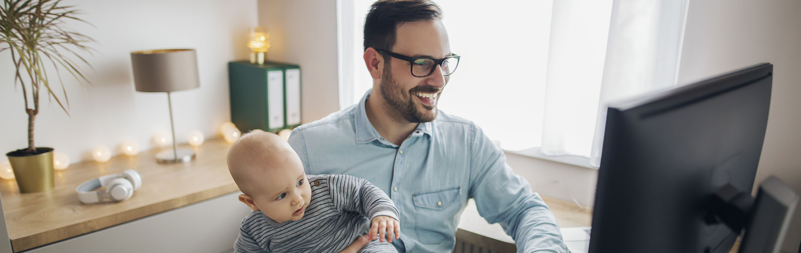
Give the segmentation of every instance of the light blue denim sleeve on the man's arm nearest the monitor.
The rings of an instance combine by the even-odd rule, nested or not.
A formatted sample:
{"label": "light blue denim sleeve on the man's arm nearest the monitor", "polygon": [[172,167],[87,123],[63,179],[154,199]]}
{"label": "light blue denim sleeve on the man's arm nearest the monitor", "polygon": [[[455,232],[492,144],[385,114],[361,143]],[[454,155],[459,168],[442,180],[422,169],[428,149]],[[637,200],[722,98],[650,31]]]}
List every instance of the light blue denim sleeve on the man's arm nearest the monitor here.
{"label": "light blue denim sleeve on the man's arm nearest the monitor", "polygon": [[556,217],[539,195],[506,164],[506,157],[473,126],[470,151],[469,197],[476,200],[478,213],[488,223],[501,223],[512,236],[517,252],[567,253]]}

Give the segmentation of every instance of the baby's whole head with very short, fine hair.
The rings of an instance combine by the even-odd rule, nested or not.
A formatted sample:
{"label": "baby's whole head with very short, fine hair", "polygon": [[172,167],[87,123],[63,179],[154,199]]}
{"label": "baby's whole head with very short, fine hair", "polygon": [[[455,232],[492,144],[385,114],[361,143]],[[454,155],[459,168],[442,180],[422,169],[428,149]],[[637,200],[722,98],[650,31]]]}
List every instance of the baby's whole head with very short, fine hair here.
{"label": "baby's whole head with very short, fine hair", "polygon": [[302,219],[312,187],[300,158],[284,139],[265,131],[242,135],[228,151],[228,171],[242,195],[239,201],[276,222]]}

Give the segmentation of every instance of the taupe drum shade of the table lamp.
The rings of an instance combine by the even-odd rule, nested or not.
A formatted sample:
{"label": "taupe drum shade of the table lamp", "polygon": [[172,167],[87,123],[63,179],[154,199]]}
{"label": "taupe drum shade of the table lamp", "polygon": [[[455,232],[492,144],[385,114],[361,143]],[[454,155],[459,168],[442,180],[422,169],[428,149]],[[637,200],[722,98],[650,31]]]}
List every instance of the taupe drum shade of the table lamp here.
{"label": "taupe drum shade of the table lamp", "polygon": [[200,86],[195,50],[164,49],[131,52],[136,91],[172,92]]}

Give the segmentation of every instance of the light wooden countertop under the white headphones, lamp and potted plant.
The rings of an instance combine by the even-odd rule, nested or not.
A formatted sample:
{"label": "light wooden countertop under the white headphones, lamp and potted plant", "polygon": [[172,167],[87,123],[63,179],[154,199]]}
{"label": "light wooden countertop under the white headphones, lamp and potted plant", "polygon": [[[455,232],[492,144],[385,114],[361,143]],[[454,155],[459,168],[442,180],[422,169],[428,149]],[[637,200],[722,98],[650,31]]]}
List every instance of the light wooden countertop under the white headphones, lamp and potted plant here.
{"label": "light wooden countertop under the white headphones, lamp and potted plant", "polygon": [[[0,179],[12,248],[24,251],[239,191],[227,170],[228,147],[231,144],[222,139],[209,139],[201,147],[191,147],[196,158],[183,164],[158,164],[155,150],[133,157],[119,155],[107,163],[77,163],[55,171],[54,189],[32,194],[20,194],[16,181]],[[126,169],[142,175],[142,187],[131,199],[78,201],[75,188],[79,184]]]}

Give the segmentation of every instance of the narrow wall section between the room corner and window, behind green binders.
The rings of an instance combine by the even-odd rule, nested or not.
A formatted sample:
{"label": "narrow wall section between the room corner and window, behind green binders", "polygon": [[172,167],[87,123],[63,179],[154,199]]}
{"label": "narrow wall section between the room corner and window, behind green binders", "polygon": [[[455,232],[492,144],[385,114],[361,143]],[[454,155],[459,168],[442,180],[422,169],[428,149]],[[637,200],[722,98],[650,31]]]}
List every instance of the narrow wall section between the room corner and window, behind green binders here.
{"label": "narrow wall section between the room corner and window, behind green binders", "polygon": [[270,33],[268,60],[300,65],[302,122],[340,110],[336,1],[260,0],[259,25]]}

